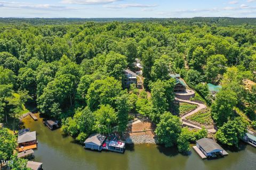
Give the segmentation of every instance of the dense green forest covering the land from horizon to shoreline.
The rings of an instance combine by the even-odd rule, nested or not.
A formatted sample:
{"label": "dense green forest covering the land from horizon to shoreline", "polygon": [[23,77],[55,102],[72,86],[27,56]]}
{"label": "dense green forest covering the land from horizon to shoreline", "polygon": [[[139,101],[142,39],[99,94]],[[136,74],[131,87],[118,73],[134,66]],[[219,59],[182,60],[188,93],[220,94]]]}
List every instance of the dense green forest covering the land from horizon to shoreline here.
{"label": "dense green forest covering the land from horizon to shoreline", "polygon": [[[244,88],[255,81],[256,19],[102,20],[0,19],[0,122],[35,106],[82,143],[93,132],[122,135],[139,113],[159,143],[186,152],[207,132],[182,128],[173,112],[170,73],[179,73],[209,106],[219,142],[237,147],[256,128],[256,87]],[[135,58],[145,90],[122,81]],[[212,96],[207,83],[222,89]]]}

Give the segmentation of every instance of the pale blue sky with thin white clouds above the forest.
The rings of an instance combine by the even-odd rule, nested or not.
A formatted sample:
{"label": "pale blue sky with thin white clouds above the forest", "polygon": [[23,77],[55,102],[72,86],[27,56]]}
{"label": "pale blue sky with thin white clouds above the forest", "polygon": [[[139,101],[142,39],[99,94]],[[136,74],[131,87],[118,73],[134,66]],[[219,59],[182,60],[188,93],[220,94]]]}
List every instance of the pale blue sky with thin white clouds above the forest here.
{"label": "pale blue sky with thin white clouds above the forest", "polygon": [[255,17],[256,0],[0,0],[0,17],[192,18]]}

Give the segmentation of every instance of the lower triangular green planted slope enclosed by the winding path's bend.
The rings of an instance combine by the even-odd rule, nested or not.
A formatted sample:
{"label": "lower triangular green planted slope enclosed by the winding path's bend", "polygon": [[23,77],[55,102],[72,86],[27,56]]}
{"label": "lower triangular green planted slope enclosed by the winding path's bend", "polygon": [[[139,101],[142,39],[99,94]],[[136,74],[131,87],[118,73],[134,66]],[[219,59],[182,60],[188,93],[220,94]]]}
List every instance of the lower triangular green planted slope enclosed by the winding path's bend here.
{"label": "lower triangular green planted slope enclosed by the winding path's bend", "polygon": [[213,124],[211,112],[209,109],[201,110],[191,116],[188,116],[187,119],[190,121],[193,121],[193,122],[203,124],[203,125],[212,125]]}

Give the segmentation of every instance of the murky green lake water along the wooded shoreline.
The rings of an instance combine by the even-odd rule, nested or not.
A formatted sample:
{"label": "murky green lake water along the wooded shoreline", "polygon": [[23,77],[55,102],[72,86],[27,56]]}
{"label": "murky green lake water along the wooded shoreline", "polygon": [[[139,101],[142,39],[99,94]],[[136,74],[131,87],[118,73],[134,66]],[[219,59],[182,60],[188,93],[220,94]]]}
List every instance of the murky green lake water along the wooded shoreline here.
{"label": "murky green lake water along the wooded shoreline", "polygon": [[215,160],[202,160],[191,149],[191,155],[183,156],[175,149],[156,145],[136,145],[124,154],[86,150],[74,143],[73,138],[63,137],[60,129],[51,131],[38,121],[25,118],[26,128],[37,132],[36,162],[42,162],[44,170],[79,169],[256,169],[256,148],[245,145],[239,152]]}

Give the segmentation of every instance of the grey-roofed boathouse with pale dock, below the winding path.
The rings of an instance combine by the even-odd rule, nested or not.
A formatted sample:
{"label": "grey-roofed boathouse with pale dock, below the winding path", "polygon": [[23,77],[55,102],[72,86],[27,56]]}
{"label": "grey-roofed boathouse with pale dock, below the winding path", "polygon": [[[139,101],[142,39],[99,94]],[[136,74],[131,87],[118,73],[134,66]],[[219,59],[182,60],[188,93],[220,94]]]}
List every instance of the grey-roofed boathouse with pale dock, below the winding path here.
{"label": "grey-roofed boathouse with pale dock, below the winding path", "polygon": [[[206,157],[225,156],[228,153],[221,148],[218,143],[210,138],[202,138],[196,141],[196,147],[203,152]],[[196,149],[195,149],[196,150]],[[199,154],[199,153],[198,153]]]}

